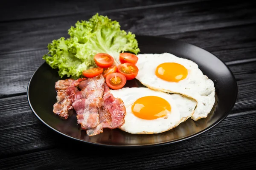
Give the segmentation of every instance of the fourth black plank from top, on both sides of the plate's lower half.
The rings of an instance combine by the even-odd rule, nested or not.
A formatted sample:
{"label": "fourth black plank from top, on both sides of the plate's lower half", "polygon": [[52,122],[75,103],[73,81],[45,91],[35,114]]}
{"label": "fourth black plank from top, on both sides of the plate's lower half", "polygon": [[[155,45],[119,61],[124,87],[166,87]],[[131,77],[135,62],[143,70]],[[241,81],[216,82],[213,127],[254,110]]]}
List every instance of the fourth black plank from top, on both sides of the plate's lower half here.
{"label": "fourth black plank from top, on both sides of the plate's lower half", "polygon": [[[240,125],[237,126],[236,117],[256,113],[255,64],[256,62],[244,64],[243,67],[240,65],[230,66],[236,77],[241,79],[238,80],[239,93],[236,105],[228,116],[230,118],[223,123],[223,126],[228,127],[226,130],[234,129],[235,126],[240,128]],[[34,116],[29,108],[26,95],[0,99],[0,113],[0,147],[2,148],[0,155],[12,156],[21,152],[26,153],[29,150],[52,148],[58,144],[54,141],[60,140],[60,136],[55,137],[55,133]],[[249,122],[247,126],[251,126],[250,120],[247,118],[244,120],[244,126],[247,122]],[[231,125],[234,127],[229,127]],[[221,131],[222,127],[216,128]]]}

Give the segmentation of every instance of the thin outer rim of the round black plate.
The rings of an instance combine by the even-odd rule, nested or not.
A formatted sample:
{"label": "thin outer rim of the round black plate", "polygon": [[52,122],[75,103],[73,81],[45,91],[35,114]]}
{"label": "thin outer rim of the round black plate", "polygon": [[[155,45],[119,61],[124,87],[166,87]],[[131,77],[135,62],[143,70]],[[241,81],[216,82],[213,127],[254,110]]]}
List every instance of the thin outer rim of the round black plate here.
{"label": "thin outer rim of the round black plate", "polygon": [[[159,36],[147,36],[147,35],[136,35],[136,37],[154,37],[154,38],[163,38],[163,39],[168,39],[168,40],[173,40],[173,41],[178,41],[178,42],[181,42],[183,44],[187,44],[187,45],[192,45],[196,48],[201,48],[197,45],[193,45],[193,44],[190,44],[188,42],[185,42],[185,41],[182,41],[182,40],[176,40],[176,39],[172,39],[172,38],[167,38],[167,37],[159,37]],[[201,48],[202,50],[212,54],[211,52],[205,50],[204,48]],[[69,136],[67,134],[64,134],[56,129],[54,129],[53,127],[51,127],[50,125],[48,125],[46,122],[44,122],[43,119],[40,118],[40,116],[38,116],[38,114],[35,112],[35,110],[33,109],[32,105],[31,105],[31,102],[30,102],[30,99],[29,99],[29,87],[30,87],[30,83],[33,79],[33,77],[35,76],[35,73],[38,71],[39,68],[41,68],[42,65],[44,65],[46,62],[44,61],[35,71],[34,73],[32,74],[31,78],[29,79],[29,83],[28,83],[28,86],[27,86],[27,100],[28,100],[28,103],[29,103],[29,107],[30,109],[32,110],[32,112],[35,114],[35,116],[41,121],[43,122],[45,125],[47,125],[47,127],[49,127],[50,129],[54,130],[56,133],[59,133],[61,135],[64,135],[65,137],[68,137],[70,139],[74,139],[75,141],[78,141],[78,142],[85,142],[87,144],[91,144],[91,145],[98,145],[98,146],[103,146],[103,147],[114,147],[114,148],[131,148],[131,147],[134,147],[134,148],[141,148],[141,147],[154,147],[154,146],[162,146],[162,145],[166,145],[166,144],[174,144],[174,143],[177,143],[177,142],[183,142],[185,140],[188,140],[188,139],[191,139],[195,136],[198,136],[208,130],[210,130],[212,127],[215,127],[216,125],[218,125],[221,121],[223,121],[227,115],[232,111],[232,109],[234,108],[234,105],[236,104],[236,100],[237,100],[237,96],[238,96],[238,87],[237,87],[237,82],[236,82],[236,78],[233,74],[233,72],[230,70],[230,68],[226,65],[225,62],[223,62],[219,57],[215,56],[214,54],[212,54],[214,57],[216,57],[220,62],[222,62],[226,68],[228,69],[228,71],[230,72],[234,82],[235,82],[235,98],[233,99],[233,104],[231,105],[229,111],[227,111],[225,114],[223,114],[223,116],[221,116],[221,118],[219,118],[214,124],[210,125],[209,127],[205,128],[204,130],[201,130],[197,133],[194,133],[190,136],[186,136],[186,137],[183,137],[183,138],[180,138],[180,139],[175,139],[173,141],[167,141],[167,142],[160,142],[160,143],[154,143],[154,144],[139,144],[139,145],[117,145],[117,144],[101,144],[101,143],[96,143],[96,142],[88,142],[88,141],[85,141],[85,140],[81,140],[81,139],[77,139],[77,138],[74,138],[72,136]]]}

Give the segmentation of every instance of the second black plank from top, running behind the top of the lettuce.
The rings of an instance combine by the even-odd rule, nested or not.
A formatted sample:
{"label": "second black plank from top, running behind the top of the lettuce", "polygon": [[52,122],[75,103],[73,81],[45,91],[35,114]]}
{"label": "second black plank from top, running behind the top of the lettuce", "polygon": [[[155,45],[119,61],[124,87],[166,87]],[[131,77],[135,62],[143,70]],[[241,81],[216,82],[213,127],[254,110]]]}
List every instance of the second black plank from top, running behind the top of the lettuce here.
{"label": "second black plank from top, running behind the top of the lettuce", "polygon": [[[256,21],[254,9],[247,1],[216,3],[212,0],[143,10],[103,11],[101,14],[119,21],[126,31],[157,36],[252,24]],[[0,23],[0,54],[45,49],[52,40],[68,37],[67,30],[77,20],[87,20],[93,14]]]}

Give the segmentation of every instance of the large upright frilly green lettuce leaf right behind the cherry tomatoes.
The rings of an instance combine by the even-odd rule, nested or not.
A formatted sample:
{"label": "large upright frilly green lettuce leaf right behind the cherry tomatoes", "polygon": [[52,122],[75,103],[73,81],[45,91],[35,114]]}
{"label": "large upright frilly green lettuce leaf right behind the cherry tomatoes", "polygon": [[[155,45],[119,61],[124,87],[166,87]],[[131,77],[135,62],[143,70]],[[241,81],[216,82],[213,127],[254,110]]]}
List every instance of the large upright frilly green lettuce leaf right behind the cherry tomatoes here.
{"label": "large upright frilly green lettuce leaf right behind the cherry tomatoes", "polygon": [[116,64],[119,64],[119,53],[129,51],[138,54],[138,42],[135,34],[126,33],[120,29],[117,21],[112,21],[107,16],[97,13],[89,21],[81,21],[71,26],[68,34],[75,41],[79,42],[79,53],[76,57],[83,59],[97,53],[107,53],[114,57]]}

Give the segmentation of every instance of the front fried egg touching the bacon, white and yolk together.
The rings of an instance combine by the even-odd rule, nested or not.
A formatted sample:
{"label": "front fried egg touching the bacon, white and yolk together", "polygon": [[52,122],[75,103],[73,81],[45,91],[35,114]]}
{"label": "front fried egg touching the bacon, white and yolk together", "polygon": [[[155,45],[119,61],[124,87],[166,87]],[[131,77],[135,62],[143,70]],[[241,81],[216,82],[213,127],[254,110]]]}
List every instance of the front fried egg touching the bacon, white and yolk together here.
{"label": "front fried egg touching the bacon, white and yolk together", "polygon": [[170,130],[190,117],[197,105],[189,97],[150,88],[122,88],[111,94],[122,99],[126,108],[125,123],[119,129],[134,134]]}

